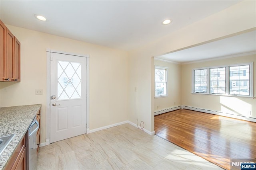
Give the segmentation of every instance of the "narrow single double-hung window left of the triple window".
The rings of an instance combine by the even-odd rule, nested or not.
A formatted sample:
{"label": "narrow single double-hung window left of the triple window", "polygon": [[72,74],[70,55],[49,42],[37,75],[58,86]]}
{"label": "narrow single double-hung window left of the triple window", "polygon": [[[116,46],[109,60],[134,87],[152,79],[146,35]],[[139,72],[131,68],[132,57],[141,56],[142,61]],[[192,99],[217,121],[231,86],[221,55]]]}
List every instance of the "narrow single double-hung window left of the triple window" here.
{"label": "narrow single double-hung window left of the triple window", "polygon": [[155,97],[167,96],[167,68],[155,66]]}

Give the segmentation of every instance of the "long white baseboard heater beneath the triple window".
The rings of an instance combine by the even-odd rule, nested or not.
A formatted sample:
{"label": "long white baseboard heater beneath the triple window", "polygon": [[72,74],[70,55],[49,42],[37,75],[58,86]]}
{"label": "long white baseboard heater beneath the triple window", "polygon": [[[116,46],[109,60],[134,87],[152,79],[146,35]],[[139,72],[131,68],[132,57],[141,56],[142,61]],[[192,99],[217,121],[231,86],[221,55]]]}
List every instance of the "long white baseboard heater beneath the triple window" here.
{"label": "long white baseboard heater beneath the triple window", "polygon": [[225,116],[225,117],[232,117],[232,118],[236,118],[236,119],[256,122],[256,118],[254,118],[254,117],[250,117],[250,116],[246,117],[243,115],[237,115],[236,113],[233,113],[233,112],[228,113],[228,112],[214,111],[214,110],[210,110],[210,109],[203,109],[203,108],[184,106],[184,105],[181,105],[180,107],[181,107],[181,109],[200,111],[200,112],[204,112],[204,113],[211,113],[214,115],[220,115],[220,116]]}

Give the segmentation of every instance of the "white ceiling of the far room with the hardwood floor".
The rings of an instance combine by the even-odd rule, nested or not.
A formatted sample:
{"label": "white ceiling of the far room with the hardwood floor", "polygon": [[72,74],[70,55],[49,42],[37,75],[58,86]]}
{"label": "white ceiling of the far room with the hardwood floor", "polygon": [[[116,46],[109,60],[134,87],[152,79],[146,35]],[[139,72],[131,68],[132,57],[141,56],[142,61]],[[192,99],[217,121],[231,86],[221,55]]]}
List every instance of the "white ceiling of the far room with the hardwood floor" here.
{"label": "white ceiling of the far room with the hardwood floor", "polygon": [[256,53],[256,31],[174,51],[156,58],[177,63],[187,63],[217,57],[236,57],[239,54],[253,52]]}

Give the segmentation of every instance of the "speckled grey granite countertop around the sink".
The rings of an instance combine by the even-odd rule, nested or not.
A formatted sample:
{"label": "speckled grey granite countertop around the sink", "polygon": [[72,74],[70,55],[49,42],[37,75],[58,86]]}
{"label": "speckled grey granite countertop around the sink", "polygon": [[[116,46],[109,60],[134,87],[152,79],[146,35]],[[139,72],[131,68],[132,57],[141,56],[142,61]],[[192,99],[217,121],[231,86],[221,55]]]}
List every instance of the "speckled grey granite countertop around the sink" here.
{"label": "speckled grey granite countertop around the sink", "polygon": [[15,133],[9,145],[0,155],[0,170],[7,165],[40,108],[41,104],[0,107],[0,136]]}

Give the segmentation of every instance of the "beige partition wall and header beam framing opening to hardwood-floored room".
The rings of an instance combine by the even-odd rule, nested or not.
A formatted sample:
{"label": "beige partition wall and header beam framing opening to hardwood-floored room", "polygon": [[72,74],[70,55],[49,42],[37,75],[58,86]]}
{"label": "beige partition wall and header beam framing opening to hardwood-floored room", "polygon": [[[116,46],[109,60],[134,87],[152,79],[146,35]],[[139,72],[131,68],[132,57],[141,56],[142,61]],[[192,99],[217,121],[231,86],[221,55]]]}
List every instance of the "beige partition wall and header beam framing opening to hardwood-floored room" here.
{"label": "beige partition wall and header beam framing opening to hardwood-floored room", "polygon": [[[129,120],[136,123],[136,118],[139,117],[144,121],[146,129],[154,131],[152,57],[256,27],[255,5],[255,1],[242,1],[165,37],[160,37],[157,41],[149,42],[144,47],[130,51],[129,67],[132,70]],[[134,86],[140,90],[137,95],[134,93]]]}

